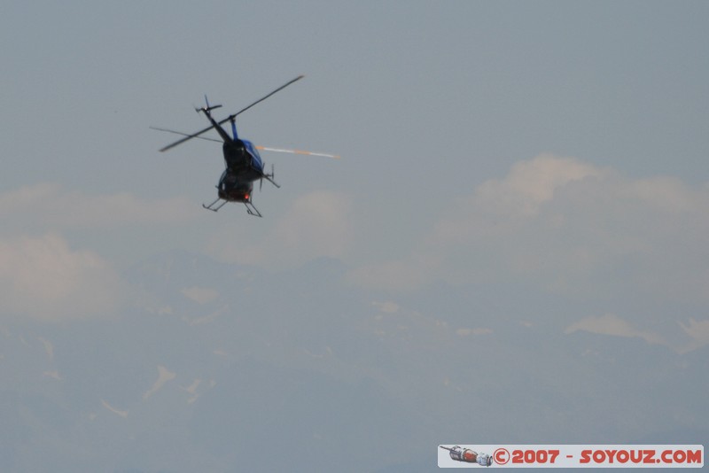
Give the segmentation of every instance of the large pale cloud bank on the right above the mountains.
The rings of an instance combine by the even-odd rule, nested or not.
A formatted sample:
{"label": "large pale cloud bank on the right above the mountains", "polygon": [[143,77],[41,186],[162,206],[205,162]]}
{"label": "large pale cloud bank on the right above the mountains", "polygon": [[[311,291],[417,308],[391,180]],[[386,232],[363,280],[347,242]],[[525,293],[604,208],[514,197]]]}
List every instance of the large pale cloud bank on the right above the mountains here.
{"label": "large pale cloud bank on the right above the mountains", "polygon": [[[589,296],[709,300],[709,186],[628,179],[579,159],[541,155],[479,185],[399,260],[362,263],[363,286],[531,283]],[[671,277],[669,277],[671,275]]]}

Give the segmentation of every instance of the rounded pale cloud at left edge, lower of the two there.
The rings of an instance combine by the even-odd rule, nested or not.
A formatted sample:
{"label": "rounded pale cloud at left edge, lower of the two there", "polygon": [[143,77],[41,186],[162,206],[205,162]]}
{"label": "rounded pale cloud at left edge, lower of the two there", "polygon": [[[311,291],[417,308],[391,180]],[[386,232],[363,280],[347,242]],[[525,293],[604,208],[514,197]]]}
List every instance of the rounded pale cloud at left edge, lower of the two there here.
{"label": "rounded pale cloud at left edge, lower of the two there", "polygon": [[122,283],[96,253],[56,233],[0,240],[0,314],[64,322],[113,314]]}

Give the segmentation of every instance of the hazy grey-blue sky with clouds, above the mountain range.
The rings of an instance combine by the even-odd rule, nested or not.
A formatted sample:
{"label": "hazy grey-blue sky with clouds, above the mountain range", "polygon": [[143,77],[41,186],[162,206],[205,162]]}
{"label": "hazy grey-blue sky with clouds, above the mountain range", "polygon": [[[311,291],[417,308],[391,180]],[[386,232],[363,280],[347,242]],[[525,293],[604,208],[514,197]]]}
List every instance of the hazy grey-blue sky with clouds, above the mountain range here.
{"label": "hazy grey-blue sky with clouds, above the mountain range", "polygon": [[[163,250],[344,262],[565,300],[559,330],[709,343],[706,2],[9,2],[0,14],[0,314],[129,303]],[[206,212],[204,94],[281,189]],[[221,116],[221,113],[220,113]],[[382,300],[386,300],[382,299]],[[51,307],[51,314],[48,313]],[[539,317],[550,317],[539,314]],[[556,316],[556,315],[555,315]],[[3,316],[0,315],[0,322]]]}

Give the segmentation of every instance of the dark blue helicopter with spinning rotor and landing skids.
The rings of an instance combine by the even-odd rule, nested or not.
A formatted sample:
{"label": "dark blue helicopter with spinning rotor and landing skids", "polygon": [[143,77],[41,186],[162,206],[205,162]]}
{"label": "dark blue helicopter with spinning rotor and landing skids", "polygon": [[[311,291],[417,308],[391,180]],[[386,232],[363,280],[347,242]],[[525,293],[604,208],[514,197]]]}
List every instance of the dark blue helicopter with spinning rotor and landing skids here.
{"label": "dark blue helicopter with spinning rotor and landing skids", "polygon": [[[205,106],[195,108],[195,110],[199,113],[204,113],[206,119],[209,120],[211,125],[207,128],[199,130],[196,133],[188,134],[167,128],[151,127],[152,129],[156,129],[159,131],[167,131],[169,133],[174,133],[176,135],[183,136],[183,138],[175,141],[174,143],[170,143],[167,146],[160,148],[161,152],[168,151],[177,146],[178,144],[182,144],[186,141],[191,140],[192,138],[199,138],[209,141],[215,141],[217,143],[222,143],[224,164],[226,168],[222,173],[222,177],[220,177],[219,179],[219,183],[216,185],[217,198],[209,205],[202,204],[202,206],[206,208],[206,210],[217,212],[227,203],[235,202],[243,203],[246,206],[246,212],[249,215],[253,215],[256,217],[263,216],[255,207],[255,205],[253,205],[253,182],[259,181],[259,189],[261,189],[261,185],[263,184],[264,179],[272,183],[277,188],[280,188],[281,186],[278,185],[276,181],[274,181],[275,173],[273,164],[271,164],[270,173],[264,171],[264,162],[263,159],[261,159],[261,154],[259,153],[259,151],[288,152],[293,154],[323,156],[326,158],[339,159],[339,156],[337,155],[321,152],[285,150],[281,148],[255,146],[249,140],[239,138],[238,136],[236,118],[240,113],[247,111],[248,109],[253,107],[253,105],[260,104],[267,98],[276,94],[278,91],[285,89],[293,82],[300,81],[300,79],[302,79],[303,77],[303,75],[299,75],[292,81],[288,81],[278,89],[270,92],[268,95],[256,100],[255,102],[253,102],[253,104],[246,106],[245,108],[239,110],[236,113],[231,114],[227,118],[220,121],[214,120],[214,117],[212,116],[212,111],[214,109],[220,108],[222,105],[209,105],[209,100],[205,96]],[[229,133],[227,133],[227,131],[222,128],[222,125],[227,121],[229,121],[231,124],[231,136],[229,136]],[[216,140],[213,138],[201,136],[213,128],[217,131],[222,140]]]}

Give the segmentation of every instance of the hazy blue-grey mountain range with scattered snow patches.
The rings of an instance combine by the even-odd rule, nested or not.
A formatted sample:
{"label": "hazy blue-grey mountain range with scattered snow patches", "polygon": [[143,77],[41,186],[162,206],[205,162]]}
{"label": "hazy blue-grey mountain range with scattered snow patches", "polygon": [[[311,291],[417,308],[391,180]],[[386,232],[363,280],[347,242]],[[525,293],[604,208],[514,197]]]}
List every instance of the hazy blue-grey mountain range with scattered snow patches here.
{"label": "hazy blue-grey mountain range with scattered snow patches", "polygon": [[709,421],[706,346],[565,333],[553,304],[363,290],[347,270],[167,252],[124,275],[118,318],[0,328],[0,468],[425,471],[441,442],[625,443]]}

